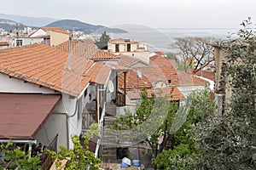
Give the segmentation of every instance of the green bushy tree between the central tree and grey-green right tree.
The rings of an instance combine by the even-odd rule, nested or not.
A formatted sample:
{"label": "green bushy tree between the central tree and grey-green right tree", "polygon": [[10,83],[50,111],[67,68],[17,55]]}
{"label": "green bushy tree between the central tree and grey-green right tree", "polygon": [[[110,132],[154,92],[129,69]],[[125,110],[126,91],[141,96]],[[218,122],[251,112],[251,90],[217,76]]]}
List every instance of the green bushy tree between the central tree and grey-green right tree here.
{"label": "green bushy tree between the central tree and grey-green right tree", "polygon": [[[212,115],[216,108],[207,89],[193,91],[186,99],[186,105],[177,111],[171,129],[174,132],[174,148],[164,150],[154,159],[158,169],[192,169],[194,161],[199,156],[195,144],[195,129],[200,122],[204,122],[208,115]],[[179,113],[182,111],[181,113]]]}

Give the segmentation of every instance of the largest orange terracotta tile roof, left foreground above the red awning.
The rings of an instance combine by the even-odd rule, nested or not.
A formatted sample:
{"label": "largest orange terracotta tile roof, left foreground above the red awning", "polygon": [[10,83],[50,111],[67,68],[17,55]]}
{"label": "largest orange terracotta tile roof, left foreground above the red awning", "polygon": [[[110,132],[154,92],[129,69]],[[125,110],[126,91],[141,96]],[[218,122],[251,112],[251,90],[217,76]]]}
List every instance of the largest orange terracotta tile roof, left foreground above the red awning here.
{"label": "largest orange terracotta tile roof, left foreground above the red awning", "polygon": [[67,53],[44,44],[0,50],[0,72],[73,96],[90,82],[90,77],[81,76],[92,64],[72,55],[72,71],[68,71]]}

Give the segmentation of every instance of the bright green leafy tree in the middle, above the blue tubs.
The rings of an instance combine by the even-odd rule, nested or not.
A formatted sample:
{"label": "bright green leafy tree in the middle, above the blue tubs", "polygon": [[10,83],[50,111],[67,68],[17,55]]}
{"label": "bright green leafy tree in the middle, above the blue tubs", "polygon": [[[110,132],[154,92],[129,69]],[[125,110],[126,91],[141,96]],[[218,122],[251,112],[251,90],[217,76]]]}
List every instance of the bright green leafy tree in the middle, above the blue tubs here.
{"label": "bright green leafy tree in the middle, above the blue tubs", "polygon": [[162,96],[162,92],[152,94],[149,98],[147,89],[143,89],[140,95],[142,102],[137,106],[136,113],[128,111],[125,116],[117,117],[113,121],[113,128],[136,129],[136,135],[137,132],[142,132],[145,142],[151,147],[153,157],[156,157],[162,150],[167,149],[168,141],[173,137],[170,128],[177,111],[177,102],[167,101],[167,96]]}

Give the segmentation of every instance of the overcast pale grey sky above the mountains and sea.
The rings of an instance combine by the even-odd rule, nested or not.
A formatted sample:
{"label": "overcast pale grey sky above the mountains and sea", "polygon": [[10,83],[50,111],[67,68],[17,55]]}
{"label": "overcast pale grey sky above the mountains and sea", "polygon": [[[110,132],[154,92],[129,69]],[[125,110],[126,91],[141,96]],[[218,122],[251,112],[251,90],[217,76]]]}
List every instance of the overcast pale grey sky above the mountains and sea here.
{"label": "overcast pale grey sky above the mountains and sea", "polygon": [[153,28],[237,28],[255,0],[5,0],[3,14],[81,20],[94,25]]}

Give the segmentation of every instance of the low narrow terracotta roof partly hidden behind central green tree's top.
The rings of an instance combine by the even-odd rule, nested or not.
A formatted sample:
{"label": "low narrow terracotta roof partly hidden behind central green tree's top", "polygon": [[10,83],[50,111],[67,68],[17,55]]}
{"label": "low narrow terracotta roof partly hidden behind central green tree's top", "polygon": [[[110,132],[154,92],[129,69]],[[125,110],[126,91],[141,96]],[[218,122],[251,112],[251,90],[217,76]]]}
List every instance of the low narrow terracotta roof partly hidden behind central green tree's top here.
{"label": "low narrow terracotta roof partly hidden behind central green tree's top", "polygon": [[[151,97],[152,94],[159,94],[159,92],[161,91],[162,94],[161,96],[169,96],[172,92],[172,95],[170,98],[168,98],[168,100],[171,101],[177,101],[180,99],[184,99],[183,94],[181,94],[181,92],[178,90],[177,87],[173,87],[173,91],[172,91],[172,87],[167,87],[167,88],[148,88],[148,97]],[[129,97],[129,99],[140,99],[140,93],[141,90],[137,89],[137,88],[133,88],[127,91],[127,95]],[[158,95],[157,95],[158,96]]]}

